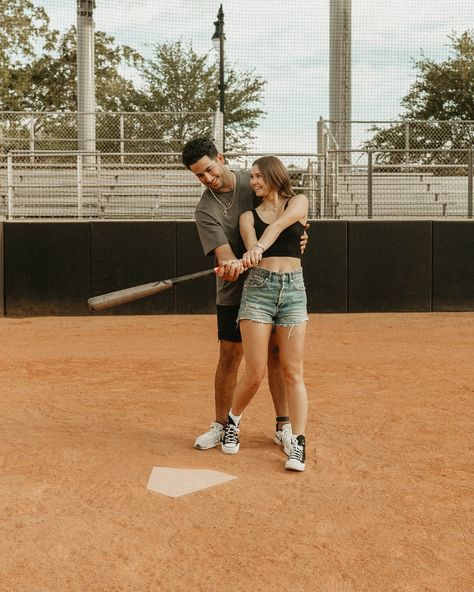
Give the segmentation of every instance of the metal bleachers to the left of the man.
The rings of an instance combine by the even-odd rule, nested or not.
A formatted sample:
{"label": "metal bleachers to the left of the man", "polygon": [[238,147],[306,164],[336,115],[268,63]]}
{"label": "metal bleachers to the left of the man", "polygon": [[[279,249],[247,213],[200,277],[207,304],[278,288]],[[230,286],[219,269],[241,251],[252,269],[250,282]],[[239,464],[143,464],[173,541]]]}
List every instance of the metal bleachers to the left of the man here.
{"label": "metal bleachers to the left of the man", "polygon": [[[16,168],[10,215],[18,218],[192,219],[201,185],[184,169],[82,171]],[[7,183],[0,185],[0,215],[7,216]]]}

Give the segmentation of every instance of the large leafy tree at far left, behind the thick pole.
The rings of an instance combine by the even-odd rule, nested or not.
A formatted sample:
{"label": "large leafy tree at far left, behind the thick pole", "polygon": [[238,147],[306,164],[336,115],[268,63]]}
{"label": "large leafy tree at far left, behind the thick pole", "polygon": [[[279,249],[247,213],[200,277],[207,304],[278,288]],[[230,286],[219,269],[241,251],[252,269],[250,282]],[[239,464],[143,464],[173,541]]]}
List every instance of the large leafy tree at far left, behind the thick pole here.
{"label": "large leafy tree at far left, behind the thick pole", "polygon": [[[44,10],[29,0],[8,4],[2,4],[0,13],[8,24],[0,36],[0,111],[39,112],[33,121],[37,149],[77,149],[77,120],[70,114],[77,111],[76,28],[60,35],[49,29]],[[141,92],[120,72],[136,73],[142,57],[102,31],[95,33],[94,42],[97,110],[139,110]],[[43,116],[45,111],[58,114]],[[3,149],[28,148],[31,123],[22,114],[0,122]],[[118,138],[119,125],[118,117],[99,115],[97,137]],[[119,143],[102,141],[98,149],[118,151]]]}

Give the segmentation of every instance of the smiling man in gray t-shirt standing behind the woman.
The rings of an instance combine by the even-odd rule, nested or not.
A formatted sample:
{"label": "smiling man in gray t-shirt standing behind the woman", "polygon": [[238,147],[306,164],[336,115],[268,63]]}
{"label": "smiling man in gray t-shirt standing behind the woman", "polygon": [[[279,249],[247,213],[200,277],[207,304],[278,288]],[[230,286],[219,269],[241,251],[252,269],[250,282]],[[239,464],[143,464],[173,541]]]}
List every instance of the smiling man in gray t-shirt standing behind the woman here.
{"label": "smiling man in gray t-shirt standing behind the woman", "polygon": [[[237,313],[242,295],[245,274],[240,274],[240,257],[244,244],[239,232],[240,214],[257,205],[250,188],[248,172],[232,171],[207,138],[189,141],[183,149],[183,164],[205,185],[196,206],[196,224],[206,255],[214,254],[217,264],[234,261],[221,270],[217,277],[217,327],[219,361],[214,379],[216,419],[210,429],[199,436],[194,447],[208,450],[220,444],[227,413],[231,408],[232,394],[237,383],[237,372],[243,356],[242,339],[237,324]],[[307,237],[302,240],[302,250]],[[289,454],[291,450],[291,423],[288,402],[280,375],[278,348],[271,340],[268,350],[268,383],[276,413],[275,442]]]}

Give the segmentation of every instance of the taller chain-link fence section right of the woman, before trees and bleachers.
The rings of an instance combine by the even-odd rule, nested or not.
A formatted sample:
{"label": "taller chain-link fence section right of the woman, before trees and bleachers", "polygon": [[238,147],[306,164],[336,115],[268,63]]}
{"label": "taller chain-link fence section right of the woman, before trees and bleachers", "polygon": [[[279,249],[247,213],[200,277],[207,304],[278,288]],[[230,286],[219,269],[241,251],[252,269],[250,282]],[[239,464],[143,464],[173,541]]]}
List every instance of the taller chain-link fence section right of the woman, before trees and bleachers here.
{"label": "taller chain-link fence section right of the woman, before trees and bleachers", "polygon": [[473,139],[473,121],[320,119],[321,216],[472,218]]}

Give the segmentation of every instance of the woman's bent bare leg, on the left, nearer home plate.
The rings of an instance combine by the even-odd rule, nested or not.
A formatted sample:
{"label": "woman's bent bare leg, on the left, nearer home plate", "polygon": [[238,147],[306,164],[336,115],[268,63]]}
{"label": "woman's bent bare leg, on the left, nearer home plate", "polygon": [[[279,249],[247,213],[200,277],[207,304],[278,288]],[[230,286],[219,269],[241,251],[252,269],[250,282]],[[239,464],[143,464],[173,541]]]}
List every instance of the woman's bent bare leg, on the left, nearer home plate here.
{"label": "woman's bent bare leg, on the left, nearer home plate", "polygon": [[234,390],[232,398],[232,413],[234,415],[242,415],[265,376],[271,331],[272,325],[269,323],[240,321],[245,371]]}

